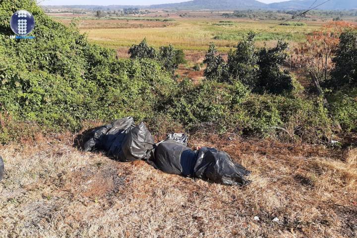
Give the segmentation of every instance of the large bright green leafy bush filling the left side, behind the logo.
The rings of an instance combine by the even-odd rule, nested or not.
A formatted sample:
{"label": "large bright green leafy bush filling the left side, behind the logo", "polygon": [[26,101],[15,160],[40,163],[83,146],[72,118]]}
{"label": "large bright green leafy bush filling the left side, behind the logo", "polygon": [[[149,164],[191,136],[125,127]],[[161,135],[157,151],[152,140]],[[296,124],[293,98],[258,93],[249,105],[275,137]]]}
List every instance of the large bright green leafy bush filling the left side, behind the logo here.
{"label": "large bright green leafy bush filling the left side, behind the logo", "polygon": [[[9,39],[8,19],[17,9],[34,14],[35,40]],[[156,104],[175,91],[160,63],[116,60],[115,51],[88,43],[34,1],[1,1],[0,17],[1,118],[77,130],[83,120],[150,118]],[[7,131],[2,124],[2,138]]]}

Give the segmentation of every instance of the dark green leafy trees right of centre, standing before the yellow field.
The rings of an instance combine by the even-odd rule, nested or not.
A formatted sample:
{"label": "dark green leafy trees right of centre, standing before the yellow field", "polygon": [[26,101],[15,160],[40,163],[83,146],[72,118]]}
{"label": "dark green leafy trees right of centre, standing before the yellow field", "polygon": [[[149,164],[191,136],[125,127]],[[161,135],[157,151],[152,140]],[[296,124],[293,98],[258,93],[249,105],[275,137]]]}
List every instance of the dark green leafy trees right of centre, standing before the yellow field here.
{"label": "dark green leafy trees right of centre, standing before the yellow field", "polygon": [[203,61],[207,64],[205,77],[218,82],[240,81],[256,93],[292,92],[293,77],[280,69],[288,58],[288,44],[278,42],[275,48],[256,50],[254,38],[255,33],[250,32],[238,43],[236,50],[229,53],[227,62],[217,56],[216,47],[211,44]]}

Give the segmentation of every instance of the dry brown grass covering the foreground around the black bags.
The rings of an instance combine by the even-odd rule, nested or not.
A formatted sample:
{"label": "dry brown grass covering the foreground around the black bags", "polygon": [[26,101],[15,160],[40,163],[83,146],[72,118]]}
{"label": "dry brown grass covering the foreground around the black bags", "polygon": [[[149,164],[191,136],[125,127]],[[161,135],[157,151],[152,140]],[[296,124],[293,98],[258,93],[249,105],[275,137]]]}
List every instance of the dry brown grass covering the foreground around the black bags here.
{"label": "dry brown grass covering the foreground around the black bags", "polygon": [[356,151],[192,137],[192,145],[223,149],[252,171],[253,182],[237,187],[83,153],[72,138],[0,147],[0,237],[357,235],[357,168],[344,159]]}

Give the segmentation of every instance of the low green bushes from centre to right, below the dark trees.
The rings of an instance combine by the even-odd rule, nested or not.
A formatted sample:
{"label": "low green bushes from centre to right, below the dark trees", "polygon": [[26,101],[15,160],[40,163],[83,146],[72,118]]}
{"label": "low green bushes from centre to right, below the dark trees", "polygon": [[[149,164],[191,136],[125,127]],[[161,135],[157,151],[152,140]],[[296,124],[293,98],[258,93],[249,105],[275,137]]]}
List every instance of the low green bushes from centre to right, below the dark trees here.
{"label": "low green bushes from centre to right, below the dark trees", "polygon": [[[244,135],[279,134],[289,141],[326,141],[332,121],[319,100],[251,94],[241,82],[183,80],[165,112],[187,129],[234,131]],[[215,130],[215,131],[214,131]]]}

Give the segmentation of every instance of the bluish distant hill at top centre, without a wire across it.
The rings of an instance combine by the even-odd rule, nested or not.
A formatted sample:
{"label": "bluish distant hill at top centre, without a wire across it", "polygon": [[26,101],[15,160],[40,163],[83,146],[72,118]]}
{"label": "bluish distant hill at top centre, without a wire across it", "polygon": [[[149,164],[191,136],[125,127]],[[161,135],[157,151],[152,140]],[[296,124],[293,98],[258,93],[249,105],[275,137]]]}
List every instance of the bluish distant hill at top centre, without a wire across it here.
{"label": "bluish distant hill at top centre, without a wire across it", "polygon": [[179,3],[151,5],[151,8],[177,10],[229,10],[229,9],[257,9],[268,5],[257,0],[192,0]]}

